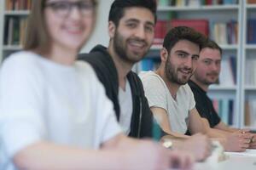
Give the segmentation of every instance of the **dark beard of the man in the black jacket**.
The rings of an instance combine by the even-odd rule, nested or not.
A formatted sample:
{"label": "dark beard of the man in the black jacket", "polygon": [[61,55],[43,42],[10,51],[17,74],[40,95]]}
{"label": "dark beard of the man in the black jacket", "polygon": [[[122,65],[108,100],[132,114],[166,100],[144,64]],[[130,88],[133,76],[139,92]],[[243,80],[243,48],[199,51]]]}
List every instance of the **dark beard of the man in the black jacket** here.
{"label": "dark beard of the man in the black jacket", "polygon": [[[137,41],[137,42],[142,42],[147,46],[146,50],[142,53],[134,53],[129,51],[127,48],[127,43],[130,41]],[[150,46],[148,43],[144,40],[141,40],[139,38],[127,38],[125,40],[124,37],[122,37],[118,31],[115,31],[114,37],[113,37],[113,50],[115,51],[116,54],[118,54],[120,59],[123,59],[125,62],[130,63],[131,65],[137,63],[143,57],[148,53]]]}

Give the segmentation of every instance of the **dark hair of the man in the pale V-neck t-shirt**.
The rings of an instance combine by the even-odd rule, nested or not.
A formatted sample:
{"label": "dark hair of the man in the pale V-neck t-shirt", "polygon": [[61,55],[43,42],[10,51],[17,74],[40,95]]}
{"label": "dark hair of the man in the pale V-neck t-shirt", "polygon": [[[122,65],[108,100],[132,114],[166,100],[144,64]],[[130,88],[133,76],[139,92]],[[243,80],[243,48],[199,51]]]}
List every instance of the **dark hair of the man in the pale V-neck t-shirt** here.
{"label": "dark hair of the man in the pale V-neck t-shirt", "polygon": [[173,46],[180,40],[189,40],[190,42],[194,42],[198,44],[201,49],[203,44],[207,41],[207,37],[188,26],[177,26],[167,32],[163,47],[166,48],[168,53],[170,53]]}

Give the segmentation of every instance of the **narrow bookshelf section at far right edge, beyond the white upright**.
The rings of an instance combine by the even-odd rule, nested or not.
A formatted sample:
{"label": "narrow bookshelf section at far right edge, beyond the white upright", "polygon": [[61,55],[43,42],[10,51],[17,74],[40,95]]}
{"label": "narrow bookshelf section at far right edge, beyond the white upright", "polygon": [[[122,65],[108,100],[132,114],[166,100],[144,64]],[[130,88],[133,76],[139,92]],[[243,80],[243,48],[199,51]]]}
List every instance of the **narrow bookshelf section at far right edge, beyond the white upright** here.
{"label": "narrow bookshelf section at far right edge, beyond the white upright", "polygon": [[[256,129],[256,37],[251,31],[256,29],[256,1],[243,3],[243,25],[241,44],[241,127]],[[249,24],[249,21],[251,23]],[[253,21],[254,20],[254,21]],[[254,23],[254,24],[252,24]]]}

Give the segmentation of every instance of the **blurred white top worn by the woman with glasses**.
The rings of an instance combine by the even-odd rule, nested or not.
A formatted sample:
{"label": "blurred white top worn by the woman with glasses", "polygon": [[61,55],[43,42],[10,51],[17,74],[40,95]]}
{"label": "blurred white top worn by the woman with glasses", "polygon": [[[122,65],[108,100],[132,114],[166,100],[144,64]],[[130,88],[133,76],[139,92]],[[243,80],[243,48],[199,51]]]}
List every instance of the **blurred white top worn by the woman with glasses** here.
{"label": "blurred white top worn by the woman with glasses", "polygon": [[120,133],[113,105],[90,65],[60,65],[32,52],[12,54],[0,72],[0,169],[29,144],[83,149]]}

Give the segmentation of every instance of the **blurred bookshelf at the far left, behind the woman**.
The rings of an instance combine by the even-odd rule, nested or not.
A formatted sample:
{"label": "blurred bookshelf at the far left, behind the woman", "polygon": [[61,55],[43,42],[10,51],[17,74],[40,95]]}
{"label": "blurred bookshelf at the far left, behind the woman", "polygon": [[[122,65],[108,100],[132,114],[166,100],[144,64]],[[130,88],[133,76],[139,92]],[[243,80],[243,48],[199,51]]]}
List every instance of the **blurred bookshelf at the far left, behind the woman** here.
{"label": "blurred bookshelf at the far left, behind the woman", "polygon": [[32,0],[2,0],[0,2],[0,59],[22,48],[27,16]]}

